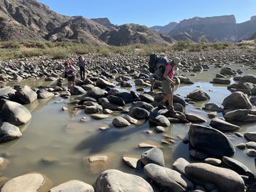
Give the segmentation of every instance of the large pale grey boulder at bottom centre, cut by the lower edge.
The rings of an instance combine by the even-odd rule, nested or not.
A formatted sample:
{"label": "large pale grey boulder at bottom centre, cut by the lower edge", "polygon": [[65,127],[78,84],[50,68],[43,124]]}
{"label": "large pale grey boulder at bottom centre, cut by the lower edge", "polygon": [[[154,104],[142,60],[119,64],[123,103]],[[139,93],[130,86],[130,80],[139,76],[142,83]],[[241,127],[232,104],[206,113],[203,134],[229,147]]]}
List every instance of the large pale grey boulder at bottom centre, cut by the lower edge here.
{"label": "large pale grey boulder at bottom centre, cut by the lower edge", "polygon": [[108,169],[99,174],[95,191],[153,192],[153,188],[142,177],[115,169]]}

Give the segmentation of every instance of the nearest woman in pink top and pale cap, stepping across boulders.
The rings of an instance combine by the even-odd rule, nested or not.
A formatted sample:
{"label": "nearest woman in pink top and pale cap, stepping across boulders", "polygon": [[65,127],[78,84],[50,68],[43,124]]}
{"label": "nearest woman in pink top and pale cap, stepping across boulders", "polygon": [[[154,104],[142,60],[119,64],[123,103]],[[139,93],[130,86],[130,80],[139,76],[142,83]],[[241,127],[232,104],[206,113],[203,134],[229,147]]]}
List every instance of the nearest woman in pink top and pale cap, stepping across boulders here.
{"label": "nearest woman in pink top and pale cap, stepping across boulders", "polygon": [[181,64],[180,58],[173,58],[173,61],[168,62],[165,65],[165,71],[162,78],[162,88],[164,89],[166,96],[159,104],[159,107],[164,107],[166,101],[168,101],[167,110],[172,113],[176,113],[173,107],[173,88],[176,83],[176,80],[173,79],[173,76],[176,73],[176,66]]}

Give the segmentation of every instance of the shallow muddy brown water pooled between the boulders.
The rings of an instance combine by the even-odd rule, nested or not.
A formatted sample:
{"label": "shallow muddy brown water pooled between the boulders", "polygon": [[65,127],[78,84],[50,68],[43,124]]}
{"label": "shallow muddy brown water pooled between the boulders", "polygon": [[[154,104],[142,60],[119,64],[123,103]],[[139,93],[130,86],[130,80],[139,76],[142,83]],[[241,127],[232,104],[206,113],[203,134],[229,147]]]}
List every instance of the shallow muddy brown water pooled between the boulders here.
{"label": "shallow muddy brown water pooled between the boulders", "polygon": [[[183,85],[177,88],[176,93],[184,96],[197,87],[203,88],[211,100],[221,104],[223,99],[230,94],[226,86],[213,85],[209,83],[219,69],[197,74],[191,77],[194,85]],[[249,71],[249,74],[255,72]],[[26,85],[44,85],[45,82],[30,81],[20,82]],[[135,90],[135,88],[132,88]],[[112,120],[93,120],[81,110],[74,110],[69,104],[69,99],[59,101],[55,99],[42,99],[34,104],[26,105],[32,112],[31,122],[21,126],[23,137],[18,140],[0,145],[0,154],[7,155],[10,164],[1,175],[4,177],[15,177],[28,172],[40,172],[53,181],[54,185],[64,183],[68,180],[82,180],[94,184],[97,176],[105,169],[120,169],[124,172],[142,174],[142,170],[130,169],[122,161],[124,155],[140,158],[141,153],[147,149],[138,148],[140,142],[147,142],[159,145],[165,154],[166,166],[170,166],[176,158],[184,157],[189,160],[188,145],[184,145],[178,137],[184,137],[189,130],[189,124],[173,124],[166,129],[165,134],[170,135],[176,141],[172,145],[163,145],[161,139],[163,134],[157,134],[154,126],[150,123],[140,121],[138,126],[127,128],[114,128]],[[206,102],[188,105],[187,112],[192,112],[201,117],[207,118],[203,107]],[[67,106],[68,111],[61,111],[61,107]],[[116,115],[119,115],[118,113]],[[219,114],[221,117],[222,115]],[[87,117],[86,122],[80,118]],[[210,120],[208,120],[209,123]],[[207,124],[207,123],[205,123]],[[109,126],[105,131],[99,130],[102,126]],[[145,131],[150,129],[153,134]],[[241,126],[241,133],[245,131],[256,131],[256,123]],[[178,137],[177,137],[178,136]],[[244,139],[235,137],[233,133],[227,134],[236,145],[239,142],[246,142]],[[256,174],[254,158],[249,158],[245,150],[236,149],[234,158],[244,162],[249,169]],[[91,155],[108,155],[110,161],[107,164],[89,164],[88,157]],[[53,164],[46,164],[42,158],[55,158]]]}

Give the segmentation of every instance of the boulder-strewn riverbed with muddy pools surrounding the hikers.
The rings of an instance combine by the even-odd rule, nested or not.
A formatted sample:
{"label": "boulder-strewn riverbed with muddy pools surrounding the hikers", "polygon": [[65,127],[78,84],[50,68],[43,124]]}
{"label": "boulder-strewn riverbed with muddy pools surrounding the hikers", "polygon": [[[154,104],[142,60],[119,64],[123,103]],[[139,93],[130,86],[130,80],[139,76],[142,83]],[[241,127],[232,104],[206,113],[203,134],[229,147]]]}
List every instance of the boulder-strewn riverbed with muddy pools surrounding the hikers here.
{"label": "boulder-strewn riverbed with muddy pools surrounding the hikers", "polygon": [[84,55],[69,90],[62,60],[1,62],[1,191],[255,191],[256,53],[167,55],[176,114],[145,56]]}

